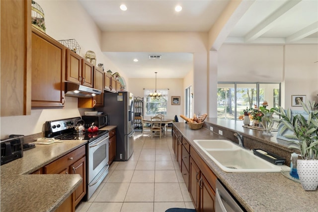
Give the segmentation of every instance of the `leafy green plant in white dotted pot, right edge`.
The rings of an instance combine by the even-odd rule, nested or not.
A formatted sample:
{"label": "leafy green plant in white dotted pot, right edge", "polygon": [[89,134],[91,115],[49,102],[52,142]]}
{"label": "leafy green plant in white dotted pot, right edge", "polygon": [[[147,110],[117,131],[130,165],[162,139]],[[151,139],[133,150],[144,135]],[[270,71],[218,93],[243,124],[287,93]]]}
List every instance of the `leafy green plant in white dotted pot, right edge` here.
{"label": "leafy green plant in white dotted pot, right edge", "polygon": [[[300,182],[305,190],[316,190],[318,186],[318,110],[315,102],[302,103],[304,112],[308,114],[292,115],[290,108],[285,111],[282,107],[279,110],[273,109],[280,115],[280,132],[286,132],[284,136],[290,140],[291,148],[298,149],[301,158],[297,161],[297,173]],[[293,134],[288,133],[288,130]],[[313,177],[314,176],[314,177]],[[308,177],[310,179],[308,179]]]}

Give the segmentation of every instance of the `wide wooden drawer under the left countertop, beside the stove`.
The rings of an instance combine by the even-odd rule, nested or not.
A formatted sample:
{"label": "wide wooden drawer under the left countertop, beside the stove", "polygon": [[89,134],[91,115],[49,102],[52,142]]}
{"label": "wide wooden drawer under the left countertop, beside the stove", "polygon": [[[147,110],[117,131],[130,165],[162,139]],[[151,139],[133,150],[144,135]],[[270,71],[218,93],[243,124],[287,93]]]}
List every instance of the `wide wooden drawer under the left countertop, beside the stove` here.
{"label": "wide wooden drawer under the left countertop, beside the stove", "polygon": [[45,174],[59,174],[85,156],[85,145],[44,166]]}

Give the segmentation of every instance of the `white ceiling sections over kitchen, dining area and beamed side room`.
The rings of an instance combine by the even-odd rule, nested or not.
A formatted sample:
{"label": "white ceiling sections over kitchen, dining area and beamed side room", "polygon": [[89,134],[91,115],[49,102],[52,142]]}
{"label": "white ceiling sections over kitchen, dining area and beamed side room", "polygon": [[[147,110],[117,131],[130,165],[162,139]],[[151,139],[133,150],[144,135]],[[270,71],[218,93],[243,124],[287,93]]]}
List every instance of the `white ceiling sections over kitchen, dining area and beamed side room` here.
{"label": "white ceiling sections over kitchen, dining area and beamed side room", "polygon": [[[208,32],[229,0],[79,0],[102,31]],[[243,0],[223,43],[318,43],[318,0]],[[121,3],[128,7],[120,10]],[[182,11],[174,7],[179,4]],[[242,14],[242,15],[238,15]],[[233,24],[234,22],[234,24]],[[105,52],[128,78],[183,78],[192,70],[189,53]],[[161,59],[148,59],[148,55]],[[137,58],[138,62],[132,60]]]}

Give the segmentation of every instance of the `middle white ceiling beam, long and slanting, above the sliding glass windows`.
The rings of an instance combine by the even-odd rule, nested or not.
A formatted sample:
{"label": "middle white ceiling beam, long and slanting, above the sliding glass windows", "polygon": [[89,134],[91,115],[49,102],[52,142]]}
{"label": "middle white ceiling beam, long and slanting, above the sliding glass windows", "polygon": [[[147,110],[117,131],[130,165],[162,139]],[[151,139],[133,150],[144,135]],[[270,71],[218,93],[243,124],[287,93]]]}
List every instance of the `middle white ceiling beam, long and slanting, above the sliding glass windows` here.
{"label": "middle white ceiling beam, long and slanting, above the sliding glass windows", "polygon": [[252,42],[265,32],[267,32],[269,29],[271,29],[278,18],[285,14],[288,10],[293,8],[296,4],[301,2],[301,0],[290,0],[287,1],[284,5],[282,5],[279,9],[277,9],[274,13],[272,13],[268,18],[263,20],[260,24],[255,26],[250,32],[247,33],[247,35],[244,37],[244,41],[246,43]]}

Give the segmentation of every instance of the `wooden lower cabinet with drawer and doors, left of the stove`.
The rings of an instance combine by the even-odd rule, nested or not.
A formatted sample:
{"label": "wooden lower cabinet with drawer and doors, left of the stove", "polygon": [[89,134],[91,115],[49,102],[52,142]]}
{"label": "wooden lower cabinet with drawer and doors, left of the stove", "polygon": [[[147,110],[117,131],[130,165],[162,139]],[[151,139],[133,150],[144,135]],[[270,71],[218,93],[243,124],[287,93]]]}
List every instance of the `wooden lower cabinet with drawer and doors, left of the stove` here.
{"label": "wooden lower cabinet with drawer and doors, left of the stove", "polygon": [[44,166],[44,174],[79,174],[82,183],[72,194],[74,209],[86,194],[85,145]]}

